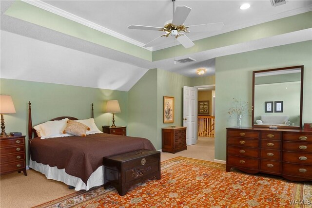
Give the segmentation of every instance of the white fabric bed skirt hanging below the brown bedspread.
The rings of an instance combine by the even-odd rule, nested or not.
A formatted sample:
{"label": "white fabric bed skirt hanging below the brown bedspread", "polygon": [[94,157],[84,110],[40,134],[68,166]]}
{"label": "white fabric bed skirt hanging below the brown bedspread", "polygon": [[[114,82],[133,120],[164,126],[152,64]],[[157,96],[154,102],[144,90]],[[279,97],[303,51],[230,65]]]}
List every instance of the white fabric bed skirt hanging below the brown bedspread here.
{"label": "white fabric bed skirt hanging below the brown bedspread", "polygon": [[29,168],[43,173],[47,179],[61,181],[64,184],[73,186],[75,187],[75,190],[89,190],[92,187],[97,187],[104,184],[103,166],[98,167],[98,169],[91,174],[87,184],[82,182],[80,178],[67,174],[65,169],[58,169],[57,167],[43,165],[42,163],[37,163],[32,159],[29,159]]}

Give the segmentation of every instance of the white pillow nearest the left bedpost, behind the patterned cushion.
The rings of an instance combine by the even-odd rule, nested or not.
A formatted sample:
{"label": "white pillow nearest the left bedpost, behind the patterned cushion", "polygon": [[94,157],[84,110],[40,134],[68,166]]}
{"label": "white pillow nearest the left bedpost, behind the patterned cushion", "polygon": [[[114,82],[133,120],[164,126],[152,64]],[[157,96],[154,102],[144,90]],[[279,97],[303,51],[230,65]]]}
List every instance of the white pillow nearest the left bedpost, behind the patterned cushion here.
{"label": "white pillow nearest the left bedpost, behind the patterned cushion", "polygon": [[68,133],[63,133],[67,127],[68,118],[59,121],[47,121],[34,127],[41,139],[72,136]]}

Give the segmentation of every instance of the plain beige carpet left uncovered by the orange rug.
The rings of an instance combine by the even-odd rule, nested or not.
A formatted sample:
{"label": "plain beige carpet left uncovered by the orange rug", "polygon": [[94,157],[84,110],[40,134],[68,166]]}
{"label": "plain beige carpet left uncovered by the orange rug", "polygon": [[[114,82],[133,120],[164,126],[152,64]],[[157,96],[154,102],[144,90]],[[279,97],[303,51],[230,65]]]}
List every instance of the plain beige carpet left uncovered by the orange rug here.
{"label": "plain beige carpet left uncovered by the orange rug", "polygon": [[[214,138],[199,137],[196,145],[176,154],[162,152],[161,161],[177,156],[214,161]],[[27,170],[27,176],[14,172],[0,177],[0,208],[30,208],[74,192],[35,170]]]}

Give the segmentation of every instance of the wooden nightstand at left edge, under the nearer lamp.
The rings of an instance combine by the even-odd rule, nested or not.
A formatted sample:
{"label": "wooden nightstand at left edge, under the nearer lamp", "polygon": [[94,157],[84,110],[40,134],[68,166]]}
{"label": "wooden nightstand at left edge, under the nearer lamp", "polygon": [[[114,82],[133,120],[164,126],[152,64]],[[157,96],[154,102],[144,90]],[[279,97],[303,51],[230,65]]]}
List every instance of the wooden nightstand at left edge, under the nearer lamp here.
{"label": "wooden nightstand at left edge, under the nearer lamp", "polygon": [[0,137],[0,174],[26,172],[25,136]]}

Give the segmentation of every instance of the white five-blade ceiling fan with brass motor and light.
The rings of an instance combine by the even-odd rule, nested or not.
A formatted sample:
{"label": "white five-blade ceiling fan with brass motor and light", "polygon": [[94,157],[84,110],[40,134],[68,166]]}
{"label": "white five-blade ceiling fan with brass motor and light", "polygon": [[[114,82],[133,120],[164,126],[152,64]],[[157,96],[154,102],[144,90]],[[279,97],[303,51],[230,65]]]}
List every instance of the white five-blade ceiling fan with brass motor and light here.
{"label": "white five-blade ceiling fan with brass motor and light", "polygon": [[[169,36],[175,37],[177,41],[179,41],[185,48],[190,48],[194,44],[194,42],[186,36],[185,33],[189,32],[209,32],[209,31],[217,31],[221,30],[224,27],[223,22],[218,23],[208,23],[208,24],[197,24],[185,26],[184,22],[188,15],[191,12],[191,8],[187,6],[177,6],[175,11],[175,1],[173,2],[173,19],[165,22],[165,26],[163,27],[154,27],[154,26],[144,26],[144,25],[129,25],[129,29],[139,29],[139,30],[156,30],[165,32],[165,34],[157,37],[156,39],[148,42],[143,47],[151,47],[159,41],[158,38]],[[189,30],[190,29],[190,30]]]}

